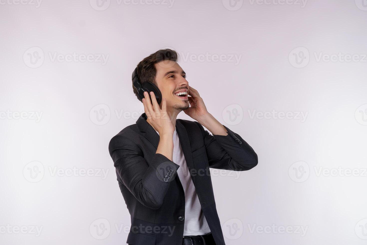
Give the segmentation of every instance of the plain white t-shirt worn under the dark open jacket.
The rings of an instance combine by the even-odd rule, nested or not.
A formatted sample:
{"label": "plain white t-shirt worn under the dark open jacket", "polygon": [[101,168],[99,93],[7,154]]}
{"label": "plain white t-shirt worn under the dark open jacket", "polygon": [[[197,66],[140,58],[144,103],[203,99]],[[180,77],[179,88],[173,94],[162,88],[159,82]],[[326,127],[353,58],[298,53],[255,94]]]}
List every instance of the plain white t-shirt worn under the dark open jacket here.
{"label": "plain white t-shirt worn under the dark open jacket", "polygon": [[[156,130],[159,135],[158,131]],[[185,191],[185,223],[183,235],[206,235],[210,233],[210,228],[205,219],[203,210],[197,197],[195,185],[192,182],[189,168],[185,156],[183,155],[181,143],[175,129],[173,133],[173,158],[172,162],[180,167],[177,169],[177,175],[181,181],[183,191]]]}

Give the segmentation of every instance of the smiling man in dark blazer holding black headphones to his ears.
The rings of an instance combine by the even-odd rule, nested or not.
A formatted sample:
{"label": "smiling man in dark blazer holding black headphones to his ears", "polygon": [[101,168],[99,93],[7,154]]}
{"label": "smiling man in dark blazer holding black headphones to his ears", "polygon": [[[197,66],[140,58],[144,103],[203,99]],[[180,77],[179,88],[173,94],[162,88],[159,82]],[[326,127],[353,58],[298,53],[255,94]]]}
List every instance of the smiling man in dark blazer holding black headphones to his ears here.
{"label": "smiling man in dark blazer holding black headphones to his ears", "polygon": [[[127,243],[224,245],[209,168],[249,170],[258,157],[207,111],[177,60],[177,53],[166,49],[139,62],[133,90],[145,113],[109,143],[131,215]],[[155,84],[157,94],[142,93],[137,79]],[[196,122],[176,119],[181,111]]]}

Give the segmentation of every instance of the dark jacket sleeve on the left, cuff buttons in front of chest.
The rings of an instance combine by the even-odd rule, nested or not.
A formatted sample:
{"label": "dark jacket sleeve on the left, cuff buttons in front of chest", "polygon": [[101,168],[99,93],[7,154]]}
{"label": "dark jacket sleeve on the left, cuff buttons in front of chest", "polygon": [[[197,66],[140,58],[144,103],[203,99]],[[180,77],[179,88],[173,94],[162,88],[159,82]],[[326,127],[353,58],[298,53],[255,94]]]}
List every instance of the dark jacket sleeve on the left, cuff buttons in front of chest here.
{"label": "dark jacket sleeve on the left, cuff buttons in front of chest", "polygon": [[117,177],[143,205],[159,209],[179,165],[162,154],[155,154],[150,165],[132,140],[116,135],[110,140],[109,153]]}

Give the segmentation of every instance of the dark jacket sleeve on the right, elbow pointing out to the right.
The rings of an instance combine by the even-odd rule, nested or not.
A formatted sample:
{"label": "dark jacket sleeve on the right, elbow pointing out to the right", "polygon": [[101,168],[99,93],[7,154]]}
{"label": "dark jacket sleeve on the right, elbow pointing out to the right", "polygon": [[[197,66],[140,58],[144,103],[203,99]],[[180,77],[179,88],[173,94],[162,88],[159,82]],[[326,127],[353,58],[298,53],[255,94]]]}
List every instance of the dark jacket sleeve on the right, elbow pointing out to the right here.
{"label": "dark jacket sleeve on the right, elbow pointing out to the right", "polygon": [[203,134],[209,167],[235,171],[249,170],[258,163],[254,149],[238,134],[224,126],[228,135],[209,134],[196,122]]}

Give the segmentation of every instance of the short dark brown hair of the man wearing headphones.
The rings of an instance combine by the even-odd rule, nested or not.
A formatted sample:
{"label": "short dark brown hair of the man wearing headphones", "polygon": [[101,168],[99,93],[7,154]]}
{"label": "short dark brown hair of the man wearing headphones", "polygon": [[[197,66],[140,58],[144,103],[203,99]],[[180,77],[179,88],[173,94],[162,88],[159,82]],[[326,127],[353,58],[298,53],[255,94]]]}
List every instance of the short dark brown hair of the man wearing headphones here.
{"label": "short dark brown hair of the man wearing headphones", "polygon": [[[166,60],[177,62],[178,60],[177,52],[169,48],[160,49],[157,52],[150,54],[148,57],[145,57],[142,61],[140,61],[139,64],[137,65],[138,78],[140,82],[142,84],[145,82],[151,82],[157,85],[156,82],[157,70],[155,64]],[[141,101],[141,99],[138,96],[138,90],[135,89],[134,84],[132,85],[132,90],[134,91],[134,94],[138,98],[138,100]]]}

